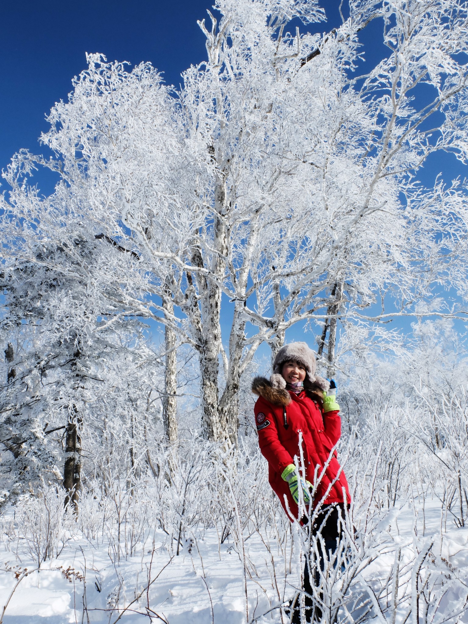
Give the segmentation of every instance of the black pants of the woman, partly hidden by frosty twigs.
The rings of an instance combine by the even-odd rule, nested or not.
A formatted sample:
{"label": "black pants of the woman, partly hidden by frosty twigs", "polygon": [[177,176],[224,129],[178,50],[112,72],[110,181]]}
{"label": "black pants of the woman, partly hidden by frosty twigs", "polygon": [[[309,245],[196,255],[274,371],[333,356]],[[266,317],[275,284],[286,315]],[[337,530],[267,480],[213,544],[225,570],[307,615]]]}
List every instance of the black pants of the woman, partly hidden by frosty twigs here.
{"label": "black pants of the woman, partly hidden by frosty twigs", "polygon": [[[318,587],[320,584],[320,572],[324,571],[326,560],[328,560],[331,555],[336,551],[338,547],[339,540],[341,539],[341,526],[338,525],[339,519],[344,520],[344,505],[323,505],[321,510],[319,510],[316,519],[314,520],[314,524],[312,527],[312,534],[318,535],[320,534],[324,544],[325,544],[325,553],[322,551],[321,542],[317,542],[317,553],[314,555],[314,585]],[[306,565],[304,568],[304,583],[303,590],[306,592],[305,597],[305,607],[306,607],[306,622],[312,622],[312,618],[314,620],[320,620],[322,617],[321,609],[315,605],[313,607],[313,600],[311,596],[313,595],[311,578],[310,578],[310,570],[309,570],[309,558],[306,559]],[[300,624],[300,610],[298,600],[296,600],[295,605],[293,606],[293,618],[291,619],[292,624]]]}

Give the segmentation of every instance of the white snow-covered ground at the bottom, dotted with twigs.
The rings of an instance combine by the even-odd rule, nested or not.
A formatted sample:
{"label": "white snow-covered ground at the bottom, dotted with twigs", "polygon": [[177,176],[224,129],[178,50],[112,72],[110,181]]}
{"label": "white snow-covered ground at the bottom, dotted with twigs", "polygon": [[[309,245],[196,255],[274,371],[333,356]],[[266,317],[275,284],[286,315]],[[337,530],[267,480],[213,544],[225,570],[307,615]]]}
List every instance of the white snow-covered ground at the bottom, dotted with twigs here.
{"label": "white snow-covered ground at the bottom, dotted with twigs", "polygon": [[[0,573],[0,605],[5,605],[17,580],[21,580],[7,605],[4,624],[143,623],[150,622],[150,616],[152,622],[169,624],[241,624],[246,622],[244,569],[249,621],[281,622],[283,617],[286,622],[275,607],[293,595],[298,583],[300,540],[297,536],[294,539],[294,529],[282,543],[278,537],[283,535],[279,531],[275,534],[275,527],[267,534],[245,532],[244,567],[240,542],[236,540],[235,544],[231,537],[221,544],[215,529],[186,534],[179,555],[172,552],[165,532],[147,531],[132,546],[131,556],[125,556],[128,546],[121,548],[119,560],[116,540],[106,541],[104,532],[97,530],[93,538],[68,528],[59,556],[42,562],[37,570],[31,539],[21,535],[16,541],[11,539],[14,525],[12,517],[8,524],[9,514],[12,510],[4,514],[4,529],[8,532],[9,527],[10,538],[4,539],[1,554],[4,565]],[[424,507],[421,502],[407,502],[396,514],[389,514],[387,520],[390,524],[384,521],[381,525],[383,547],[378,558],[364,569],[360,586],[369,580],[375,589],[376,578],[385,582],[399,546],[400,582],[402,586],[411,585],[415,548],[422,552],[434,539],[432,552],[446,560],[452,574],[452,579],[447,578],[447,592],[434,620],[441,622],[442,610],[447,615],[456,598],[461,597],[461,588],[468,584],[468,528],[457,528],[450,517],[446,520],[436,499],[426,500]],[[278,529],[283,531],[280,524]],[[121,544],[126,537],[128,545],[131,527],[125,529],[127,535],[121,535]],[[436,563],[434,566],[437,567]],[[16,579],[15,572],[21,574],[24,568],[31,573]],[[117,602],[119,610],[113,610]],[[402,599],[399,618],[409,606],[411,598]],[[375,616],[374,610],[368,621]],[[384,621],[381,619],[381,624]],[[468,622],[468,612],[449,621]]]}

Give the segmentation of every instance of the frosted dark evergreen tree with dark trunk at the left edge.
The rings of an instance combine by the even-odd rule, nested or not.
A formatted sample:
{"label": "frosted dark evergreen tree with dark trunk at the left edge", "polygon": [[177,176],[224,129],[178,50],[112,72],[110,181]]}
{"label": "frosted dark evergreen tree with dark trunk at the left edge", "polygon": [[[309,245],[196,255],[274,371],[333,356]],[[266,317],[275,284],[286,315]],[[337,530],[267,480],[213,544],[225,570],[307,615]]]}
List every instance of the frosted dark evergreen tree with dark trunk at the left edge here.
{"label": "frosted dark evergreen tree with dark trunk at the left edge", "polygon": [[16,261],[1,275],[0,448],[2,485],[12,494],[45,480],[63,484],[66,502],[77,507],[82,463],[96,439],[97,454],[105,454],[110,417],[121,422],[114,427],[130,464],[134,430],[144,432],[139,447],[149,449],[162,390],[158,354],[142,323],[115,318],[109,301],[82,279],[82,268],[99,263],[96,247],[79,238],[71,250],[43,245],[34,262]]}

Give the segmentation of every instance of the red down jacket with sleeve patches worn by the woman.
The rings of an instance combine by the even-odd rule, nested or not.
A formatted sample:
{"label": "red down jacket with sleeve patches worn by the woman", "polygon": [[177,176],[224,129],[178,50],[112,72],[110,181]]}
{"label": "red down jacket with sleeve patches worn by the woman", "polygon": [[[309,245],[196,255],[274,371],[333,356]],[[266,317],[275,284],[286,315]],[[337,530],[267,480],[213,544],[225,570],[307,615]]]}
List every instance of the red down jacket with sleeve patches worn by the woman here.
{"label": "red down jacket with sleeve patches worn by the woman", "polygon": [[[259,396],[255,403],[255,424],[261,454],[268,461],[268,481],[278,495],[286,514],[288,510],[285,495],[290,512],[297,517],[298,505],[291,496],[288,484],[281,479],[281,473],[288,464],[294,464],[295,456],[298,456],[300,461],[299,432],[301,431],[306,479],[312,484],[314,480],[318,480],[329,459],[331,449],[341,436],[339,412],[323,414],[321,405],[313,399],[313,394],[308,395],[303,391],[296,396],[294,392],[273,388],[270,382],[262,377],[256,377],[253,380],[252,391]],[[284,409],[286,409],[287,428],[284,425]],[[314,479],[315,472],[317,476]],[[330,484],[332,484],[331,487]],[[322,500],[329,487],[326,499]],[[313,507],[316,507],[319,502],[325,505],[343,503],[343,490],[346,493],[346,504],[349,504],[351,499],[348,482],[334,451],[323,477],[316,484]]]}

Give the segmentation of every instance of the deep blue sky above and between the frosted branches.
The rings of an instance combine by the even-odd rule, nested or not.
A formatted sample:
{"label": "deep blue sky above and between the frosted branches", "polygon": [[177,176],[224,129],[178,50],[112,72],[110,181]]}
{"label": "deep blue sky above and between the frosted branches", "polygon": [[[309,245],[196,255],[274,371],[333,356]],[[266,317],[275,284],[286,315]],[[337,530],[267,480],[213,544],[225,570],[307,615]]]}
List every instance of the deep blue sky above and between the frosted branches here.
{"label": "deep blue sky above and between the frosted branches", "polygon": [[[46,153],[37,141],[47,130],[44,117],[57,100],[66,99],[72,78],[85,69],[85,52],[101,52],[111,61],[133,65],[150,61],[169,84],[178,85],[180,73],[205,58],[205,39],[197,19],[207,17],[211,4],[210,0],[5,2],[0,37],[0,168],[21,148]],[[316,31],[329,31],[340,23],[339,1],[323,4],[328,23],[317,24]],[[360,34],[369,64],[386,54],[380,32],[381,24],[374,21]],[[439,171],[446,180],[467,175],[466,166],[454,156],[438,155],[419,177],[430,184]],[[49,193],[54,178],[39,172],[34,182]],[[410,322],[397,321],[406,331]],[[291,330],[288,338],[297,339],[300,331]],[[311,334],[308,341],[314,342]]]}

